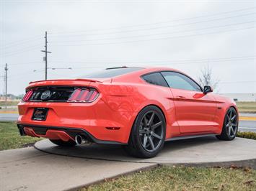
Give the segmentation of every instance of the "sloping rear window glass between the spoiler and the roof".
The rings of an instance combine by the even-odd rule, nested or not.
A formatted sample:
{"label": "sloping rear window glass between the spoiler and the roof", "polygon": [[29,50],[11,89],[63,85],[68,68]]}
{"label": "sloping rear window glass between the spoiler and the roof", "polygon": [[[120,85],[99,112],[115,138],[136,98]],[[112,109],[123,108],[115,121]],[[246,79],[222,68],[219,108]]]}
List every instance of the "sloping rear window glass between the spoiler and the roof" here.
{"label": "sloping rear window glass between the spoiler and the roof", "polygon": [[81,78],[112,78],[118,75],[123,75],[127,73],[132,73],[138,70],[144,69],[143,67],[115,67],[107,68],[102,71],[91,73],[88,75],[83,75]]}

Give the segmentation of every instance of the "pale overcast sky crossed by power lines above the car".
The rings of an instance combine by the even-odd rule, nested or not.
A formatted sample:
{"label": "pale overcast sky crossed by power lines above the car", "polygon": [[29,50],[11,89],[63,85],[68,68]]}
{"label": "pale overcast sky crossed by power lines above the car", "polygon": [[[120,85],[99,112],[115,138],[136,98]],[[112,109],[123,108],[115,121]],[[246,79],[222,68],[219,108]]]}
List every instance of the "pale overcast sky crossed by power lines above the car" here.
{"label": "pale overcast sky crossed by power lines above the car", "polygon": [[256,1],[0,0],[0,93],[104,67],[167,66],[197,79],[211,67],[219,93],[256,92]]}

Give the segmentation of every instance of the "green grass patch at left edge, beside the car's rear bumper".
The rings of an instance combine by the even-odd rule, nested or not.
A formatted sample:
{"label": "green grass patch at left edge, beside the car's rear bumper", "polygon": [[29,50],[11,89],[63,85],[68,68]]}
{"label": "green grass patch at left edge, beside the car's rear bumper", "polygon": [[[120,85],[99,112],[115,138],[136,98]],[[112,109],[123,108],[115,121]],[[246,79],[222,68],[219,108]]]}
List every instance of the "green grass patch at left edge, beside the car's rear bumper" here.
{"label": "green grass patch at left edge, beside the car's rear bumper", "polygon": [[39,140],[30,136],[19,136],[14,122],[0,122],[0,151],[22,148]]}

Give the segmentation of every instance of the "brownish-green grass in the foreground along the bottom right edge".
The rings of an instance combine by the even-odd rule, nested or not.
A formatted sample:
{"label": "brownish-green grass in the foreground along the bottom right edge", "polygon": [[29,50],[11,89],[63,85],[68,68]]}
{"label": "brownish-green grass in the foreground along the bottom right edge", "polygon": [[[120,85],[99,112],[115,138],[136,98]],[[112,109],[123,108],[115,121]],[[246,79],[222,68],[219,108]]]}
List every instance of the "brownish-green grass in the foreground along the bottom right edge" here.
{"label": "brownish-green grass in the foreground along the bottom right edge", "polygon": [[158,167],[81,190],[256,190],[256,170]]}

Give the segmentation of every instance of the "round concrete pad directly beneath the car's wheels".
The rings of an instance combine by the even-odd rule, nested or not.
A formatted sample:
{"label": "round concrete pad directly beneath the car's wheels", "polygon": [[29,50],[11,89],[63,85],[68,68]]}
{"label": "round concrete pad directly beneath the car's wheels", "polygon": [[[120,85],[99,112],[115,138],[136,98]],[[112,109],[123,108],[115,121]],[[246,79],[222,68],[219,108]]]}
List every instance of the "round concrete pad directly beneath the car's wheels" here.
{"label": "round concrete pad directly beneath the car's wheels", "polygon": [[92,144],[61,148],[45,139],[37,142],[35,148],[50,154],[84,159],[157,164],[209,164],[256,159],[255,140],[236,138],[233,141],[219,141],[215,136],[166,142],[162,152],[151,159],[130,157],[125,154],[121,146],[114,145]]}

